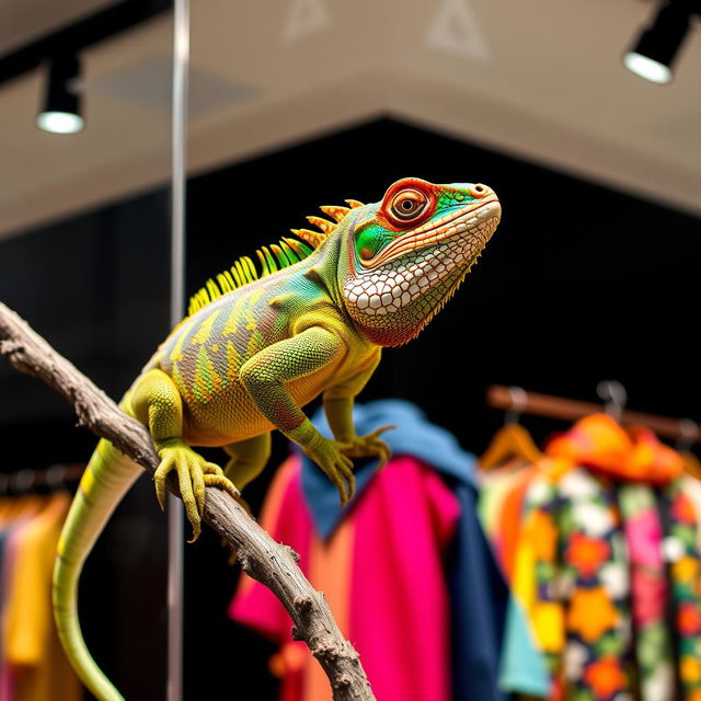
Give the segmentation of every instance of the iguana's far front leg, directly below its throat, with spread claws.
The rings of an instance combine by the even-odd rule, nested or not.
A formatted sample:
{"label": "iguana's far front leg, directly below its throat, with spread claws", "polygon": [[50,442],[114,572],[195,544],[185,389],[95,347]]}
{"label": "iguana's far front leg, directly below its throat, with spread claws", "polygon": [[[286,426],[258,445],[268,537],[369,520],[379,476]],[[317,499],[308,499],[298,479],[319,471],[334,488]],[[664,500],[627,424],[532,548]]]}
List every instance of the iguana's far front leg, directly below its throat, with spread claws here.
{"label": "iguana's far front leg, directly below its throat, with spread claws", "polygon": [[381,426],[366,436],[358,436],[353,423],[353,404],[379,363],[380,348],[357,375],[330,387],[324,392],[324,413],[334,438],[341,444],[342,452],[350,458],[377,457],[380,459],[378,469],[384,467],[391,456],[390,447],[380,436],[394,426]]}

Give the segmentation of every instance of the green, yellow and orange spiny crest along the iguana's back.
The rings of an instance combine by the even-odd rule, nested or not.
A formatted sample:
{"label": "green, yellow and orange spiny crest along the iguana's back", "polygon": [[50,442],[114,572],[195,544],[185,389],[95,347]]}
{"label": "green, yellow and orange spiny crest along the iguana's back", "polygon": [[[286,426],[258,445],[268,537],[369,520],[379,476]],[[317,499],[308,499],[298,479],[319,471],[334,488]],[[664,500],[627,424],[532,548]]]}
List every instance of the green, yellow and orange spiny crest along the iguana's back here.
{"label": "green, yellow and orange spiny crest along the iguana's back", "polygon": [[207,304],[210,304],[222,295],[239,289],[250,283],[267,277],[273,273],[295,265],[308,257],[314,249],[318,249],[338,228],[338,223],[344,220],[350,209],[363,207],[363,203],[357,199],[346,199],[348,207],[340,205],[324,205],[320,209],[331,217],[333,221],[323,217],[309,216],[310,223],[318,227],[321,232],[310,229],[291,229],[292,233],[308,243],[311,249],[295,239],[283,238],[277,244],[261,246],[255,254],[258,258],[260,272],[254,262],[248,256],[241,256],[234,264],[223,273],[219,273],[216,278],[210,278],[205,286],[199,288],[189,298],[187,317],[192,317]]}

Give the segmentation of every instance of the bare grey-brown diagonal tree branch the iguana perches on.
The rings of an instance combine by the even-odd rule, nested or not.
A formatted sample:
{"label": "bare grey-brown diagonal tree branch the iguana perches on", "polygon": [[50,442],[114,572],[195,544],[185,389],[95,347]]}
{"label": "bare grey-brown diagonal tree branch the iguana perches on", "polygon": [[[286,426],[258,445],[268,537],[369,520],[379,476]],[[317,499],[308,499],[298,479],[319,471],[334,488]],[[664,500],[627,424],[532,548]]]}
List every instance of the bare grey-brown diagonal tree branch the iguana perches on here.
{"label": "bare grey-brown diagonal tree branch the iguana perches on", "polygon": [[[111,440],[147,471],[156,471],[159,458],[149,432],[2,302],[0,355],[62,394],[73,405],[80,426]],[[175,479],[168,486],[180,496]],[[295,622],[295,637],[307,643],[329,677],[334,701],[374,701],[357,652],[341,634],[323,594],[314,590],[297,566],[298,555],[276,543],[231,496],[216,487],[207,487],[204,520],[237,548],[244,572],[283,602]]]}

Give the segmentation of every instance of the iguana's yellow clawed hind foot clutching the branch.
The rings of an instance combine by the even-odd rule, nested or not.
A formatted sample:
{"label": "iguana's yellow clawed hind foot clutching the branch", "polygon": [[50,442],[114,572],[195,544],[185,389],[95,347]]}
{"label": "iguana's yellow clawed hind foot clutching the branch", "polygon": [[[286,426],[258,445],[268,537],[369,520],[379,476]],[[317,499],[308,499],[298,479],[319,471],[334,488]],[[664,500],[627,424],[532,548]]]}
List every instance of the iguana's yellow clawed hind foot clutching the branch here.
{"label": "iguana's yellow clawed hind foot clutching the branch", "polygon": [[199,538],[200,521],[205,510],[205,487],[217,486],[237,498],[239,490],[228,480],[221,468],[214,462],[208,462],[189,446],[182,441],[173,441],[160,446],[158,455],[161,463],[153,475],[156,483],[156,496],[165,508],[165,480],[171,472],[177,473],[177,484],[185,505],[187,520],[193,527],[193,537],[188,542]]}

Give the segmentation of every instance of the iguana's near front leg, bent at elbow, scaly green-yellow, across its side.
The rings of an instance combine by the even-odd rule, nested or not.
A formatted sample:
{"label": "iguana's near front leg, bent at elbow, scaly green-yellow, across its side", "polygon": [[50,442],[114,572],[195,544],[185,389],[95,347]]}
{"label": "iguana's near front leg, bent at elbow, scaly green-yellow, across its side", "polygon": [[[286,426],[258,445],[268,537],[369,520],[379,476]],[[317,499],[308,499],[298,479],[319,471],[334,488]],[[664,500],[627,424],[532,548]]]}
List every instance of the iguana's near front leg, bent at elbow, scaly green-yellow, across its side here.
{"label": "iguana's near front leg, bent at elbow, scaly green-yellow, across its side", "polygon": [[285,389],[284,382],[321,370],[347,353],[344,342],[321,326],[264,348],[241,367],[241,380],[261,413],[326,473],[345,504],[355,491],[352,460],[322,436]]}

